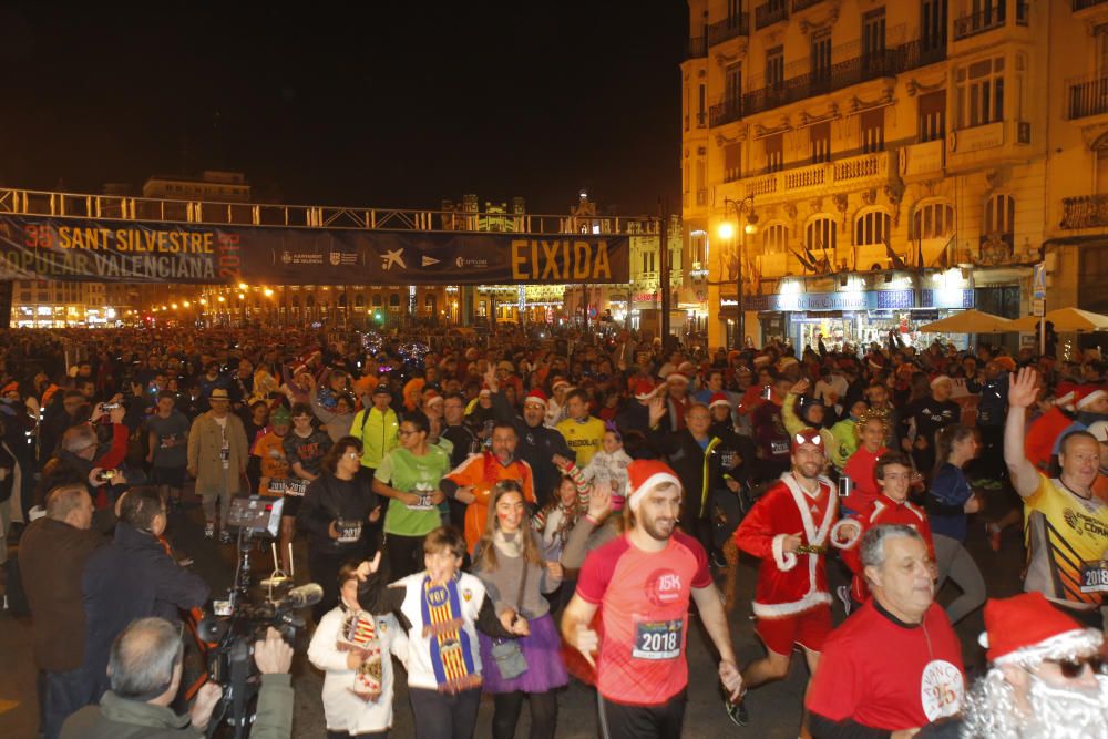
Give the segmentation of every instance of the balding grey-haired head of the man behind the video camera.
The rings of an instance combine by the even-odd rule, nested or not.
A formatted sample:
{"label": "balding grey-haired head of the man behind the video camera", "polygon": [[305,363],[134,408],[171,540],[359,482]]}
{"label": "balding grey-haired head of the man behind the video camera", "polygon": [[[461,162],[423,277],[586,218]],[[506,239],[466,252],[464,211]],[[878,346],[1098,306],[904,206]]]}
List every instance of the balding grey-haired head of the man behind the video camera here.
{"label": "balding grey-haired head of the man behind the video camera", "polygon": [[181,661],[181,630],[164,618],[131,622],[112,643],[107,675],[121,698],[152,700],[173,684]]}

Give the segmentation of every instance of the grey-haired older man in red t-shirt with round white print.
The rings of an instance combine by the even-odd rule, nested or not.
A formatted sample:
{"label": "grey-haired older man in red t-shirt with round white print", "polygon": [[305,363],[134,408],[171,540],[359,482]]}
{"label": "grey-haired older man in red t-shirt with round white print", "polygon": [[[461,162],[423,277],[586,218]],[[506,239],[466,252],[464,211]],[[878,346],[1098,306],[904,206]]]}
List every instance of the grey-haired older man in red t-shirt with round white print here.
{"label": "grey-haired older man in red t-shirt with round white print", "polygon": [[874,526],[860,548],[873,597],[824,644],[806,700],[812,736],[912,737],[962,710],[962,645],[915,528]]}

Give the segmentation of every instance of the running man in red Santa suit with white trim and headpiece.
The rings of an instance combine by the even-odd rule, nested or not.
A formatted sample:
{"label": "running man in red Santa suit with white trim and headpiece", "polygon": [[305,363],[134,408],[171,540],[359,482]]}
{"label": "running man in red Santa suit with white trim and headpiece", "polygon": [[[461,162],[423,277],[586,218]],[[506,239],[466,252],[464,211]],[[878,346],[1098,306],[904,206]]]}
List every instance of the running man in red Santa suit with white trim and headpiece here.
{"label": "running man in red Santa suit with white trim and headpiece", "polygon": [[[758,500],[735,532],[738,547],[761,558],[753,610],[766,657],[742,670],[742,682],[755,688],[789,674],[792,650],[800,646],[808,668],[815,671],[823,640],[831,633],[831,594],[824,555],[830,546],[851,546],[861,535],[858,522],[831,526],[839,514],[834,485],[820,474],[827,449],[818,429],[792,434],[792,470]],[[747,722],[739,704],[729,711]]]}

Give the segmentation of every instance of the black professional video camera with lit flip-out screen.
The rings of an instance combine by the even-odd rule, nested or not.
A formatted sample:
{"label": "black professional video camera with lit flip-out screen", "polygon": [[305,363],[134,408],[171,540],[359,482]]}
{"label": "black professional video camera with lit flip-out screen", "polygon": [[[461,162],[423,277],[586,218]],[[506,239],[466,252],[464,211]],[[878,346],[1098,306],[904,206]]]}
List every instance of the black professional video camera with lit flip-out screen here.
{"label": "black professional video camera with lit flip-out screen", "polygon": [[[213,615],[196,626],[197,637],[207,644],[207,671],[224,687],[222,707],[213,714],[207,736],[220,726],[228,736],[247,737],[254,722],[260,676],[254,663],[254,645],[266,638],[270,627],[290,645],[305,622],[295,612],[314,606],[324,597],[316,583],[293,587],[295,573],[283,572],[277,563],[277,537],[284,499],[257,495],[235,497],[227,516],[238,527],[238,566],[235,582],[224,601],[213,601]],[[255,538],[268,538],[274,558],[273,574],[257,588],[250,587],[250,552]],[[291,545],[289,545],[291,548]],[[291,563],[291,552],[289,562]]]}

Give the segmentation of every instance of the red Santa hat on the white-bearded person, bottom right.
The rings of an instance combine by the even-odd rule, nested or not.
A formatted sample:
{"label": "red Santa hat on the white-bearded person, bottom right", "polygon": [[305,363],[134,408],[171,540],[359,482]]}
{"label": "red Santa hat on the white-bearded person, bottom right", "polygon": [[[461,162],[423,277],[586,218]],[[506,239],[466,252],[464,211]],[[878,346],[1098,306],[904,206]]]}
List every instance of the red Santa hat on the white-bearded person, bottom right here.
{"label": "red Santa hat on the white-bearded person, bottom right", "polygon": [[1084,628],[1050,605],[1042,593],[1020,593],[985,603],[985,633],[978,639],[995,665],[1030,667],[1046,659],[1077,660],[1100,650],[1104,634]]}

